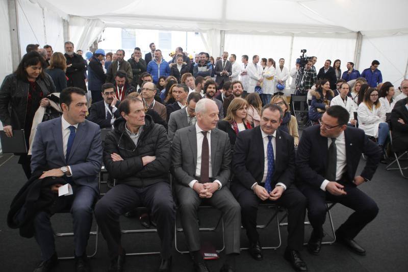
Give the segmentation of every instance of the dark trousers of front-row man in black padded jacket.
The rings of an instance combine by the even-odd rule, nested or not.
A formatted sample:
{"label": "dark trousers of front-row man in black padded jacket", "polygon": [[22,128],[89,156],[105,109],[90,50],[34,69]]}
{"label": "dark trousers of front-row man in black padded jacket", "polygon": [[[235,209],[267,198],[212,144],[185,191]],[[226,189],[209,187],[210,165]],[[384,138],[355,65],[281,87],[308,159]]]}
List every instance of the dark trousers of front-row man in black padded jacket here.
{"label": "dark trousers of front-row man in black padded jacket", "polygon": [[143,188],[118,184],[110,189],[95,206],[95,218],[108,243],[109,258],[122,252],[119,216],[135,207],[147,207],[157,222],[161,240],[161,256],[171,256],[174,237],[175,207],[170,184],[158,182]]}

